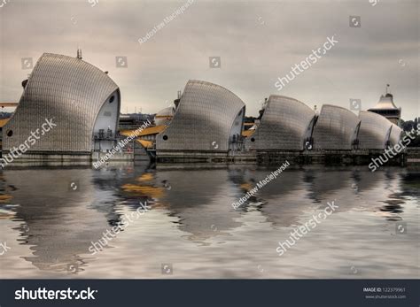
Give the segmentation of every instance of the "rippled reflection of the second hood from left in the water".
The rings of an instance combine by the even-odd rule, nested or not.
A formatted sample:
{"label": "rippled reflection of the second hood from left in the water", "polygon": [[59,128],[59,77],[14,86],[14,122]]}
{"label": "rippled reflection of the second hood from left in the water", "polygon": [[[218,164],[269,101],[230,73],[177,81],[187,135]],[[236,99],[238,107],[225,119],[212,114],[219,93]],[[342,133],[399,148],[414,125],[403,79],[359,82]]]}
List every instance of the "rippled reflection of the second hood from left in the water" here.
{"label": "rippled reflection of the second hood from left in the water", "polygon": [[180,229],[192,241],[204,242],[207,238],[229,231],[240,223],[230,203],[232,193],[229,172],[224,170],[167,170],[157,173],[157,180],[170,184],[159,203],[180,220]]}

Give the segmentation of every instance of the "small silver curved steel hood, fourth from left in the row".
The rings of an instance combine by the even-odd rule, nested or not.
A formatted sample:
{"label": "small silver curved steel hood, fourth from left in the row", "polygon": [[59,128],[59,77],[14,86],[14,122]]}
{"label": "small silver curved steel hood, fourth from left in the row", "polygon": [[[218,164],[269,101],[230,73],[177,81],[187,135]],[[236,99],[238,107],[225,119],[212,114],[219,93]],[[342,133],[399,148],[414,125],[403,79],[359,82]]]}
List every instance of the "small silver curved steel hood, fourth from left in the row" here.
{"label": "small silver curved steel hood, fourth from left in the row", "polygon": [[323,104],[314,128],[315,150],[351,150],[360,119],[345,108]]}

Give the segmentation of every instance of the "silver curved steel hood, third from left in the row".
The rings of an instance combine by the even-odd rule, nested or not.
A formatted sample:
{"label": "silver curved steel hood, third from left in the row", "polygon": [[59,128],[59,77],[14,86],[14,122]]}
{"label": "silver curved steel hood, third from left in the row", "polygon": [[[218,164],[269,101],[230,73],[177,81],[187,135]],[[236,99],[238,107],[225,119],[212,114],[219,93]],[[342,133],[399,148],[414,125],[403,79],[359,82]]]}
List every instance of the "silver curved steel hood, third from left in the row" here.
{"label": "silver curved steel hood, third from left in the row", "polygon": [[251,150],[303,150],[307,127],[315,111],[286,96],[269,96],[261,122],[247,138]]}

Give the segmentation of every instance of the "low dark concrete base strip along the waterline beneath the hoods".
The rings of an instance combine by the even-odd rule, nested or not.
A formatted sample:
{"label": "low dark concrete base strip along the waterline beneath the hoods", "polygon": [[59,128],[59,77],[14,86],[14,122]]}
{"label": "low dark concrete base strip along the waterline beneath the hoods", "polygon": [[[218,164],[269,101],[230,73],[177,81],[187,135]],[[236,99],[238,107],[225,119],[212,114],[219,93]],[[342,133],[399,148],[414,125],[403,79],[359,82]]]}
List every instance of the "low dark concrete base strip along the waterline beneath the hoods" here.
{"label": "low dark concrete base strip along the waterline beneath the hoods", "polygon": [[[9,152],[3,152],[3,158]],[[90,166],[106,156],[106,152],[86,153],[25,153],[12,159],[3,161],[3,167],[11,166]],[[7,156],[10,159],[11,156]],[[381,159],[382,157],[382,159]],[[288,160],[295,165],[369,165],[377,161],[378,165],[407,166],[420,165],[420,148],[409,148],[399,155],[389,158],[384,150],[250,150],[243,152],[214,152],[214,151],[157,151],[152,154],[144,149],[134,152],[118,152],[106,159],[106,162],[150,162],[159,164],[279,164]],[[385,162],[383,162],[385,161]],[[382,162],[382,163],[381,163]]]}

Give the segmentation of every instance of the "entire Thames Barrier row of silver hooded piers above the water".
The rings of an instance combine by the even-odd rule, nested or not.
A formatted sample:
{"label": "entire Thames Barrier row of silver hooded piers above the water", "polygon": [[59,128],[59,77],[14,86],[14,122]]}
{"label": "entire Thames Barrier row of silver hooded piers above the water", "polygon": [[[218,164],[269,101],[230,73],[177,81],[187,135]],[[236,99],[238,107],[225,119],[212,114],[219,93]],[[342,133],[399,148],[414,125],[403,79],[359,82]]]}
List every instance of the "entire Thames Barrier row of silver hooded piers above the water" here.
{"label": "entire Thames Barrier row of silver hooded piers above the water", "polygon": [[[170,107],[156,113],[152,126],[121,146],[133,130],[119,127],[120,88],[83,61],[82,50],[75,58],[44,53],[22,86],[16,111],[2,127],[2,159],[11,165],[91,165],[105,156],[110,162],[368,165],[396,146],[401,150],[389,165],[419,160],[418,150],[405,148],[409,138],[398,126],[401,109],[390,93],[358,115],[332,104],[318,112],[292,97],[271,95],[259,117],[245,123],[245,103],[237,95],[191,80]],[[45,119],[56,127],[22,147]]]}

